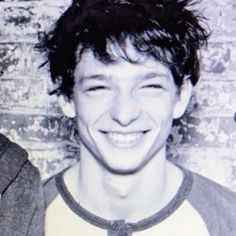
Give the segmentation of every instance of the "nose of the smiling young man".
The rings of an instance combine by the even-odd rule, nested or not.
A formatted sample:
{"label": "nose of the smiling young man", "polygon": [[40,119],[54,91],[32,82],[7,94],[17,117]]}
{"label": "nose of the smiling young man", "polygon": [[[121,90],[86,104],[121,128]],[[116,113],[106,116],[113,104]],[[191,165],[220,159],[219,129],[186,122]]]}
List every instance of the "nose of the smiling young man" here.
{"label": "nose of the smiling young man", "polygon": [[137,101],[131,96],[117,96],[110,109],[111,118],[121,126],[130,125],[138,119],[140,113]]}

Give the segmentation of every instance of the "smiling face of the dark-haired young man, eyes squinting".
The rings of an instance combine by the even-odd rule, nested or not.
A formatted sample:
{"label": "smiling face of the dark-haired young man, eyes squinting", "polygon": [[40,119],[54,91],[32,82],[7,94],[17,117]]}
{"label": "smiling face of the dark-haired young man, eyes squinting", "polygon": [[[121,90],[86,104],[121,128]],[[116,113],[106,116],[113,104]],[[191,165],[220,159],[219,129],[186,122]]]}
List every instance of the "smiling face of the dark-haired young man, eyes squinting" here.
{"label": "smiling face of the dark-haired young man, eyes squinting", "polygon": [[[178,91],[170,70],[150,57],[105,65],[86,51],[75,69],[81,146],[109,171],[134,173],[165,149]],[[83,157],[81,157],[83,158]]]}

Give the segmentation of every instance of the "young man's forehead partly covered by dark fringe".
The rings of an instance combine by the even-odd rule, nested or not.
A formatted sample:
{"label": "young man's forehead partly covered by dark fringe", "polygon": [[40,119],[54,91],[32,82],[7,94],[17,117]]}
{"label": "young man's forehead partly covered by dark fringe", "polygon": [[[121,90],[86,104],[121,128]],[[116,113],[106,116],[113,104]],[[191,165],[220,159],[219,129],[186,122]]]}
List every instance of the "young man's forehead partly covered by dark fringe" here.
{"label": "young man's forehead partly covered by dark fringe", "polygon": [[[75,77],[91,77],[94,75],[107,75],[107,76],[137,76],[145,73],[157,73],[160,75],[169,76],[171,74],[169,68],[162,62],[154,59],[153,57],[142,55],[135,51],[134,48],[128,47],[127,53],[136,63],[129,62],[116,52],[115,48],[113,55],[116,57],[114,63],[105,64],[98,60],[92,50],[86,50],[75,68]],[[119,55],[119,56],[118,56]]]}

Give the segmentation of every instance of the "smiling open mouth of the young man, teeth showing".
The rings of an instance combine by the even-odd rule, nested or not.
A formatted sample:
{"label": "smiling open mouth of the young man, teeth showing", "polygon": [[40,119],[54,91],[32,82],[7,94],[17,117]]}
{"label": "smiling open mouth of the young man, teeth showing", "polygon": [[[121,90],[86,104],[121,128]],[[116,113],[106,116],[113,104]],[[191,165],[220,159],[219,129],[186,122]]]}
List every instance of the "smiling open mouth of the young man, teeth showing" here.
{"label": "smiling open mouth of the young man, teeth showing", "polygon": [[121,132],[102,131],[102,133],[105,134],[109,142],[119,148],[131,148],[139,144],[139,142],[147,132],[148,131],[121,133]]}

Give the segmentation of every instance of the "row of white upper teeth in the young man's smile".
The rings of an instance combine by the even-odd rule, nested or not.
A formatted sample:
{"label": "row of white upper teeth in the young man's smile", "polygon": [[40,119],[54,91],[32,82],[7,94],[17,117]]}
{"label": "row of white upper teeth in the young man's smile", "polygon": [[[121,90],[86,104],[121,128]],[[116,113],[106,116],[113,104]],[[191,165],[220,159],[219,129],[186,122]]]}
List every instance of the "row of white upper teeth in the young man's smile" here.
{"label": "row of white upper teeth in the young man's smile", "polygon": [[128,134],[111,132],[111,133],[108,133],[108,138],[111,141],[118,144],[127,144],[127,143],[133,143],[137,141],[142,135],[143,135],[143,132],[135,132],[135,133],[128,133]]}

